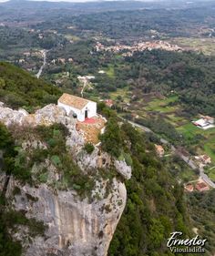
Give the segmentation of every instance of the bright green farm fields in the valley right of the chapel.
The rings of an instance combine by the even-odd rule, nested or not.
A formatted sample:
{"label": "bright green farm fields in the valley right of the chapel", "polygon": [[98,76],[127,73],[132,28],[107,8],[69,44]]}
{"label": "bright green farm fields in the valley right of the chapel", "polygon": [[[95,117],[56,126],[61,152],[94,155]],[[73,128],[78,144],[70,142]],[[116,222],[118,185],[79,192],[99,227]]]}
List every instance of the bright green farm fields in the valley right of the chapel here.
{"label": "bright green farm fields in the valley right of the chapel", "polygon": [[[128,97],[128,94],[123,89],[117,90],[115,93],[115,96],[119,95]],[[177,102],[178,98],[178,96],[150,97],[148,102],[147,100],[140,100],[135,103],[135,107],[140,118],[146,118],[152,112],[153,115],[161,115],[165,121],[170,123],[183,136],[185,145],[194,148],[196,154],[209,155],[212,162],[215,163],[215,128],[207,130],[197,128],[191,123],[191,118],[181,116],[181,106]]]}

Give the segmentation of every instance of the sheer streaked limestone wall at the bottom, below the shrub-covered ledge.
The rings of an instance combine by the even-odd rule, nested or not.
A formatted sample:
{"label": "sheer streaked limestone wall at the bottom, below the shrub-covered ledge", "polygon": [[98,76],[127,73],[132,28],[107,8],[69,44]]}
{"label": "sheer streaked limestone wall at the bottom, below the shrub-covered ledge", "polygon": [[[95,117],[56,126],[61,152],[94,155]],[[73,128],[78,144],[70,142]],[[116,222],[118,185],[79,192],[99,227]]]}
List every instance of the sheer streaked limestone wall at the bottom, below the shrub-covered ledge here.
{"label": "sheer streaked limestone wall at the bottom, below the shrub-covered ledge", "polygon": [[[107,255],[109,242],[126,205],[127,192],[123,183],[114,179],[107,198],[90,203],[78,200],[72,190],[56,193],[45,184],[38,188],[21,186],[15,179],[10,179],[8,198],[15,187],[20,189],[13,200],[15,210],[24,210],[27,218],[42,220],[47,226],[46,238],[36,236],[31,243],[23,244],[25,256],[44,256],[51,252],[64,256]],[[36,200],[29,200],[26,194]],[[14,237],[26,241],[25,232],[16,232]]]}

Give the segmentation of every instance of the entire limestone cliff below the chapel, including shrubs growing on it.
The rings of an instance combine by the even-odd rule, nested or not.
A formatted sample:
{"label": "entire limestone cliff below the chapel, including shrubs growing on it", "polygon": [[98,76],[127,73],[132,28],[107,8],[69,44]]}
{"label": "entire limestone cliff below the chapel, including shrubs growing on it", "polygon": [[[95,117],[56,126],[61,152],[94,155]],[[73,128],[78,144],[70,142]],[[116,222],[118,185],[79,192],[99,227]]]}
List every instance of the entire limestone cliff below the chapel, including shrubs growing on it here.
{"label": "entire limestone cliff below the chapel, including shrubs growing on it", "polygon": [[[32,156],[36,158],[35,152],[44,153],[43,161],[31,165],[31,182],[6,176],[4,167],[0,171],[0,192],[5,193],[8,202],[5,210],[22,212],[28,220],[36,219],[45,227],[44,232],[36,236],[25,225],[10,230],[15,241],[22,243],[23,255],[106,256],[126,205],[123,179],[130,178],[131,168],[125,161],[113,159],[97,147],[87,154],[84,138],[76,129],[76,119],[68,118],[64,109],[54,104],[28,114],[24,109],[5,108],[1,103],[0,122],[14,134],[19,156],[15,161],[20,160],[22,154],[28,162]],[[35,128],[55,124],[67,128],[64,159],[49,151],[54,138],[46,142],[32,132]],[[20,129],[22,136],[17,136]],[[59,137],[56,131],[55,128],[55,138]],[[66,171],[70,158],[74,163],[72,167],[68,165],[70,169]],[[78,175],[84,180],[83,184],[76,184],[73,169],[80,172],[76,172],[76,176],[77,180]],[[81,187],[85,188],[82,193]]]}

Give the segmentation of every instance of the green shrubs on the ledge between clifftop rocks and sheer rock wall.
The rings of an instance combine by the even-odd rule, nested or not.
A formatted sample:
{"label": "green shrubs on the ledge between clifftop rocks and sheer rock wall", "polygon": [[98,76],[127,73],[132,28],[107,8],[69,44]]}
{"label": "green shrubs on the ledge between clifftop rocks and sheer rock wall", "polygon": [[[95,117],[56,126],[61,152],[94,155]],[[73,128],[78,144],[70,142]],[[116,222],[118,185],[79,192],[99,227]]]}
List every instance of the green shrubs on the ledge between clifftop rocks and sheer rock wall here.
{"label": "green shrubs on the ledge between clifftop rocks and sheer rock wall", "polygon": [[[36,128],[15,128],[12,130],[16,139],[16,146],[22,144],[25,138],[31,138],[32,141],[41,141],[44,148],[28,148],[24,150],[21,147],[16,147],[17,155],[15,156],[15,167],[22,170],[22,173],[28,173],[29,176],[18,176],[18,179],[33,183],[50,183],[50,186],[58,189],[67,189],[76,187],[77,192],[86,196],[88,191],[91,191],[94,185],[94,180],[84,175],[77,167],[71,154],[67,151],[66,137],[68,134],[67,128],[60,124],[55,124],[50,127]],[[26,160],[28,159],[28,160]],[[45,161],[48,159],[52,163],[57,172],[61,173],[59,181],[48,180],[48,169],[46,169]],[[40,167],[42,164],[42,168]],[[38,172],[32,173],[31,169],[37,165]]]}

